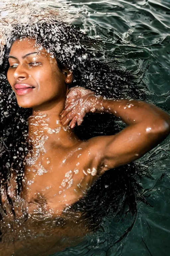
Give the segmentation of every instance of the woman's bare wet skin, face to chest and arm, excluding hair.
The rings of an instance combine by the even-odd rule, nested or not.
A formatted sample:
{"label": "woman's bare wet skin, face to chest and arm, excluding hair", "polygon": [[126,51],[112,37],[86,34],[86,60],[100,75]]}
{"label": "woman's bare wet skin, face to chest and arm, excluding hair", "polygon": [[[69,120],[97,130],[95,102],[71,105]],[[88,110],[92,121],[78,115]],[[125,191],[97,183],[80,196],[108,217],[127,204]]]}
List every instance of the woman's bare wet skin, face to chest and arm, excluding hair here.
{"label": "woman's bare wet skin, face to chest and arm, excluding hair", "polygon": [[[140,158],[170,133],[169,115],[152,104],[104,100],[81,87],[68,91],[71,71],[60,71],[55,58],[32,39],[14,42],[9,55],[7,78],[17,102],[33,109],[28,120],[33,150],[27,156],[21,195],[33,216],[40,208],[51,217],[62,216],[64,208],[81,198],[98,176]],[[32,88],[16,89],[22,85]],[[88,112],[113,114],[127,127],[113,136],[81,141],[72,128]],[[40,141],[41,150],[36,153]],[[11,180],[13,197],[14,187]],[[15,205],[15,210],[20,216],[21,209]]]}

